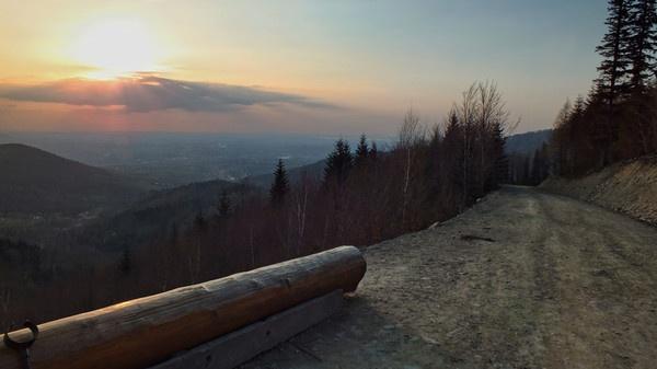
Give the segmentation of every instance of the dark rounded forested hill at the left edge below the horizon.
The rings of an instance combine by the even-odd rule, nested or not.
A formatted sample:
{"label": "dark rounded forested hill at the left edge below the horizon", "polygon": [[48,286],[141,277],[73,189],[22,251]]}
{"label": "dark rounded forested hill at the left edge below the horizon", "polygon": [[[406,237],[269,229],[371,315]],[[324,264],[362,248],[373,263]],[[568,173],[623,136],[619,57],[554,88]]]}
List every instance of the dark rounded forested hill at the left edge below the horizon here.
{"label": "dark rounded forested hill at the left edge below the horizon", "polygon": [[146,191],[118,174],[18,143],[0,145],[0,209],[79,214],[134,200]]}

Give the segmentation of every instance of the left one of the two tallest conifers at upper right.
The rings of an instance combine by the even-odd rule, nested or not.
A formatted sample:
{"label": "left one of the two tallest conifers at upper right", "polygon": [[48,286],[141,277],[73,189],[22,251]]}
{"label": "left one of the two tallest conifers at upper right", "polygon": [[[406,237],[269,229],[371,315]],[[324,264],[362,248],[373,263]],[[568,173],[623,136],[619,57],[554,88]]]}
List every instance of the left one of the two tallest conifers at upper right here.
{"label": "left one of the two tallest conifers at upper right", "polygon": [[596,48],[603,58],[598,67],[598,90],[610,107],[629,91],[627,77],[632,64],[630,7],[631,0],[609,0],[609,18],[606,22],[608,32],[602,44]]}

